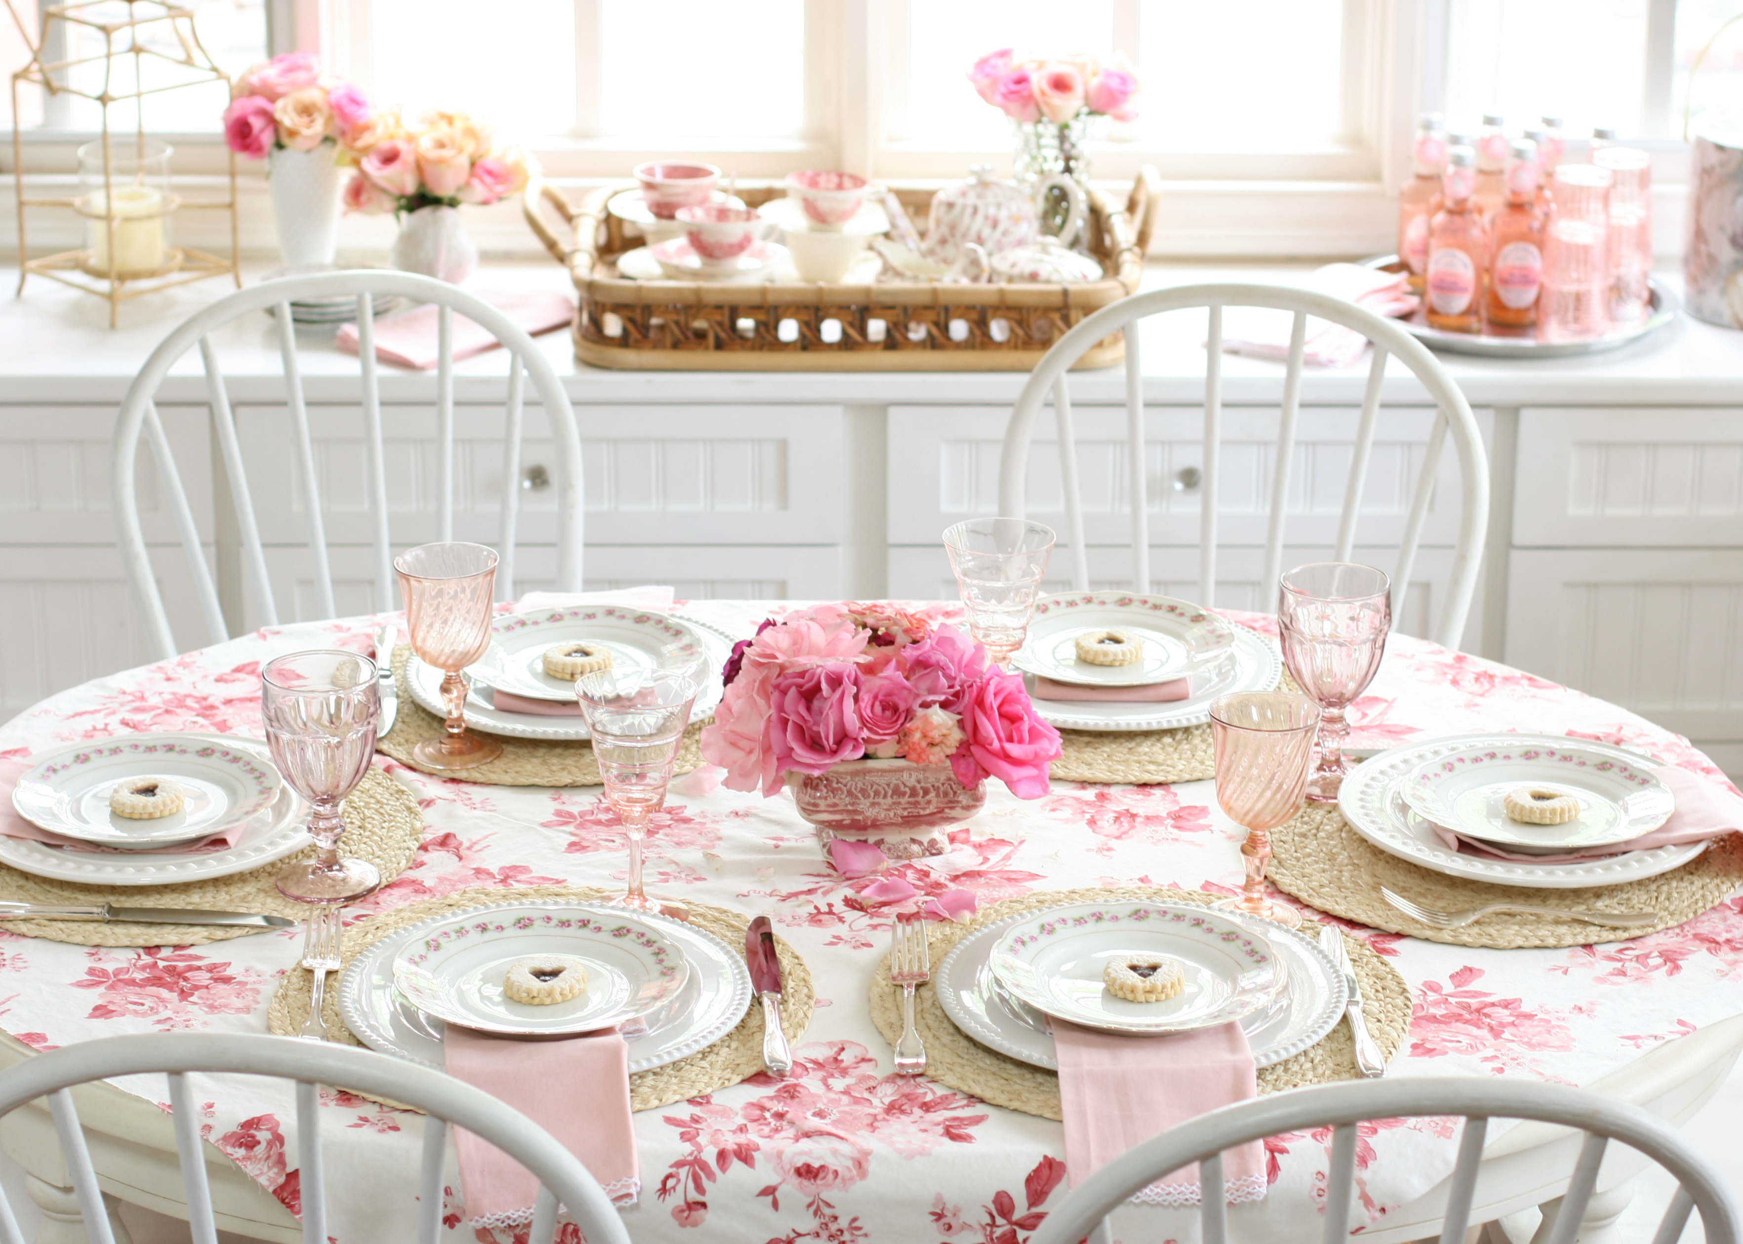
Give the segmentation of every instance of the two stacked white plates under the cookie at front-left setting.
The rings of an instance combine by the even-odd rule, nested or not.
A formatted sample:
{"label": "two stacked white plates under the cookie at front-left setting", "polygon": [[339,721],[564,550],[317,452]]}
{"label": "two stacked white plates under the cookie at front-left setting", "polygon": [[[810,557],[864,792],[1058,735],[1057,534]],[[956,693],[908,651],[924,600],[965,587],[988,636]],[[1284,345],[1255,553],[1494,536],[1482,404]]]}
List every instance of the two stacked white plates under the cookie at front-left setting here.
{"label": "two stacked white plates under the cookie at front-left setting", "polygon": [[[586,970],[566,1002],[516,1002],[519,960]],[[751,1004],[744,958],[713,934],[594,903],[498,903],[448,911],[364,948],[340,977],[345,1026],[382,1054],[443,1068],[446,1024],[505,1037],[622,1028],[629,1070],[650,1072],[725,1037]]]}

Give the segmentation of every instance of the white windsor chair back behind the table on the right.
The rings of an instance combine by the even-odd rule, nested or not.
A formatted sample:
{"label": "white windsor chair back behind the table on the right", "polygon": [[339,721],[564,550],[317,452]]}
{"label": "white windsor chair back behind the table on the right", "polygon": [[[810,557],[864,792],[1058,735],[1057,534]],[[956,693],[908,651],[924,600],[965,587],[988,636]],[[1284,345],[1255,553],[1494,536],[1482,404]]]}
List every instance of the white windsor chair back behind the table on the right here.
{"label": "white windsor chair back behind the table on the right", "polygon": [[[1077,476],[1075,437],[1072,432],[1072,402],[1067,371],[1098,341],[1112,333],[1126,331],[1126,470],[1131,491],[1131,556],[1133,591],[1150,591],[1150,528],[1145,472],[1143,432],[1143,359],[1136,322],[1163,312],[1203,307],[1210,315],[1204,369],[1204,465],[1199,493],[1199,589],[1197,599],[1211,605],[1217,594],[1217,504],[1218,462],[1222,441],[1222,308],[1269,307],[1293,312],[1290,357],[1283,376],[1283,409],[1278,429],[1274,470],[1271,477],[1271,512],[1265,538],[1265,561],[1260,577],[1262,591],[1272,591],[1283,573],[1283,537],[1290,472],[1295,456],[1295,430],[1300,415],[1302,355],[1307,317],[1342,324],[1373,343],[1373,361],[1368,366],[1368,383],[1361,399],[1361,418],[1356,427],[1354,456],[1344,491],[1344,509],[1339,521],[1335,561],[1349,561],[1356,542],[1356,517],[1361,512],[1363,490],[1368,477],[1368,460],[1373,434],[1379,427],[1380,390],[1386,380],[1386,361],[1400,359],[1428,390],[1438,415],[1429,430],[1422,470],[1417,477],[1410,514],[1405,521],[1398,563],[1393,570],[1393,598],[1401,601],[1410,584],[1422,526],[1428,521],[1434,495],[1434,477],[1448,432],[1459,453],[1462,481],[1462,510],[1459,540],[1454,552],[1450,584],[1440,617],[1434,620],[1433,639],[1448,648],[1459,646],[1471,596],[1476,591],[1476,573],[1482,563],[1483,533],[1489,528],[1489,458],[1483,451],[1476,420],[1469,402],[1440,361],[1394,321],[1382,319],[1354,303],[1307,289],[1258,284],[1180,286],[1133,294],[1103,307],[1081,321],[1035,364],[1028,382],[1018,394],[1011,420],[1006,425],[1004,453],[999,460],[999,512],[1027,517],[1025,479],[1028,472],[1028,444],[1042,404],[1053,399],[1060,436],[1060,474],[1065,490],[1067,538],[1072,547],[1072,585],[1089,591],[1089,556],[1086,549],[1082,497]],[[1265,605],[1260,605],[1265,608]]]}

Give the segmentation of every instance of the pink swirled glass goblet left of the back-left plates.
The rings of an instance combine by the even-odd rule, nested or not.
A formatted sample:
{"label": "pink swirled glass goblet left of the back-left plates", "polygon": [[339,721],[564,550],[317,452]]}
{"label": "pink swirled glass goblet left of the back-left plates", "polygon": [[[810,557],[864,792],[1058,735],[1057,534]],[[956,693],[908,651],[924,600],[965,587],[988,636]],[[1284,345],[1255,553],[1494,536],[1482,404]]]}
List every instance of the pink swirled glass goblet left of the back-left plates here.
{"label": "pink swirled glass goblet left of the back-left plates", "polygon": [[443,671],[446,734],[411,749],[425,768],[474,768],[502,754],[495,739],[465,732],[469,683],[460,671],[490,648],[490,601],[497,591],[497,551],[481,544],[420,544],[394,558],[406,603],[411,652]]}

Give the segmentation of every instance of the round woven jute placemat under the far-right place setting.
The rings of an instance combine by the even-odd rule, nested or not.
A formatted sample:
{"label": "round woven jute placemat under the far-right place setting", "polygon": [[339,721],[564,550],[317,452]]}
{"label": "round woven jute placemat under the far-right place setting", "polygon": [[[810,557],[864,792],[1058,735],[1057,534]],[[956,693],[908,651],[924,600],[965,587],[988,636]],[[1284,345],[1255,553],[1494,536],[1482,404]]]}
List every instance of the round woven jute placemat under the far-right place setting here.
{"label": "round woven jute placemat under the far-right place setting", "polygon": [[[1452,946],[1593,946],[1673,929],[1724,903],[1743,885],[1743,835],[1726,835],[1682,868],[1638,882],[1577,890],[1492,885],[1445,876],[1387,854],[1358,835],[1335,805],[1309,803],[1293,821],[1271,831],[1271,883],[1319,911],[1370,929],[1408,934]],[[1492,915],[1462,929],[1431,929],[1380,897],[1386,887],[1436,911],[1469,911],[1492,903],[1591,911],[1656,911],[1649,929],[1614,929],[1579,920],[1534,915]]]}

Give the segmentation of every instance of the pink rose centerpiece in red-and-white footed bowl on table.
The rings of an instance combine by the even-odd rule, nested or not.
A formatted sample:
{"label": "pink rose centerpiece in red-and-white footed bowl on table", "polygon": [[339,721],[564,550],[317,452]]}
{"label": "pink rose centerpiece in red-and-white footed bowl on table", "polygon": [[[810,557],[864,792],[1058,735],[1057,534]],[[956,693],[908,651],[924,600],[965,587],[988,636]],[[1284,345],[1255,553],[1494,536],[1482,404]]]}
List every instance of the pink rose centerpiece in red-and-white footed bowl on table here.
{"label": "pink rose centerpiece in red-and-white footed bowl on table", "polygon": [[955,627],[884,605],[769,619],[734,646],[723,679],[702,756],[736,791],[791,788],[824,847],[941,854],[934,831],[980,810],[987,777],[1041,798],[1060,756],[1020,676]]}

